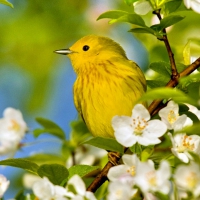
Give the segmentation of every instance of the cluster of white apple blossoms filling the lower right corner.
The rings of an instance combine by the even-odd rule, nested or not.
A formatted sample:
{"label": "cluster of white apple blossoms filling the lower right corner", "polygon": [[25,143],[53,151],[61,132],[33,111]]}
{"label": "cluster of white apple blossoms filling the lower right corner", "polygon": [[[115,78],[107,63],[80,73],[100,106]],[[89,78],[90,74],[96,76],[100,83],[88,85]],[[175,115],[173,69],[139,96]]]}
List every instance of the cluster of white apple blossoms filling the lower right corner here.
{"label": "cluster of white apple blossoms filling the lower right corner", "polygon": [[[190,110],[199,118],[197,109],[190,106]],[[170,196],[173,193],[173,184],[180,199],[187,198],[187,192],[191,192],[195,198],[199,197],[200,165],[195,163],[191,153],[200,155],[200,136],[182,132],[193,121],[185,114],[179,115],[179,106],[173,101],[169,101],[158,115],[161,120],[150,120],[148,110],[142,104],[137,104],[131,117],[115,116],[112,126],[116,140],[125,147],[132,147],[136,143],[141,146],[157,145],[161,143],[159,138],[167,133],[165,137],[171,141],[172,154],[183,164],[178,165],[172,174],[166,159],[161,159],[159,168],[155,169],[152,160],[141,162],[136,154],[124,154],[123,164],[112,167],[108,172],[109,200],[122,200],[124,195],[126,199],[132,199],[137,197],[138,190],[147,200],[156,199],[154,194],[157,192]]]}

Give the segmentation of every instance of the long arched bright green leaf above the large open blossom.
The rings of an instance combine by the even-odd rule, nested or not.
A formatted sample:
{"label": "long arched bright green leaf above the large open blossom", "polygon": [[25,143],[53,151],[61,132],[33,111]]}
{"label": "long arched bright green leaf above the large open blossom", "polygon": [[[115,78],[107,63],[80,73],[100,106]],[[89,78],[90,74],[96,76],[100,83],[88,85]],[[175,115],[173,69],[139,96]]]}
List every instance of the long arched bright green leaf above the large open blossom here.
{"label": "long arched bright green leaf above the large open blossom", "polygon": [[176,103],[189,103],[192,105],[197,105],[197,102],[190,98],[190,96],[186,95],[184,92],[173,89],[173,88],[166,88],[160,87],[155,88],[147,93],[145,93],[138,102],[144,102],[147,100],[155,100],[155,99],[169,99],[172,98]]}

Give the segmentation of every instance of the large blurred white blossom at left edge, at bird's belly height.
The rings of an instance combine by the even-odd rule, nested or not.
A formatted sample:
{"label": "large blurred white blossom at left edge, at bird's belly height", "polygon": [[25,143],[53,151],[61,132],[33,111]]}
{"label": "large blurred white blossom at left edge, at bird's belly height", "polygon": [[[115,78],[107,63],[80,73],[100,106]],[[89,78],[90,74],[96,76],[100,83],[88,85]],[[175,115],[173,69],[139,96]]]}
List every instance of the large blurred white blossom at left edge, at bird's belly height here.
{"label": "large blurred white blossom at left edge, at bird's belly height", "polygon": [[6,108],[0,119],[0,156],[13,156],[28,130],[22,113],[14,108]]}

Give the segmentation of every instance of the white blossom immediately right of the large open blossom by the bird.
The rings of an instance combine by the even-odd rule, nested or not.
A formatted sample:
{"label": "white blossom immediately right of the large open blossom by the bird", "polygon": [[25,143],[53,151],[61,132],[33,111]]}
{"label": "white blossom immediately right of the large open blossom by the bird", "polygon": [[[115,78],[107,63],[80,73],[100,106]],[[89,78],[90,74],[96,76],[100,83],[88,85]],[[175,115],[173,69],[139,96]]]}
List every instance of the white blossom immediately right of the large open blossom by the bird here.
{"label": "white blossom immediately right of the large open blossom by the bird", "polygon": [[179,116],[179,107],[174,101],[170,101],[158,114],[169,130],[178,131],[193,124],[192,120],[185,114]]}

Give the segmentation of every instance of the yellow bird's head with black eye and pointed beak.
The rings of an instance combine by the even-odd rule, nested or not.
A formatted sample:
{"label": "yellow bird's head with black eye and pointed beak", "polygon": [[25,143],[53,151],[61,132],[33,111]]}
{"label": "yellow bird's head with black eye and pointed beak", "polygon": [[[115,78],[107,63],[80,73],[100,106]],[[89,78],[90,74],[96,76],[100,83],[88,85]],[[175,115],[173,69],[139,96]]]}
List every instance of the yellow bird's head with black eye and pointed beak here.
{"label": "yellow bird's head with black eye and pointed beak", "polygon": [[67,55],[75,71],[79,71],[87,63],[95,64],[114,56],[126,58],[125,51],[118,43],[110,38],[96,35],[85,36],[69,49],[56,50],[55,52]]}

